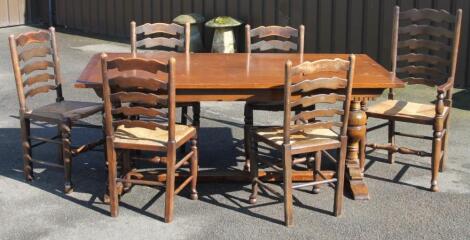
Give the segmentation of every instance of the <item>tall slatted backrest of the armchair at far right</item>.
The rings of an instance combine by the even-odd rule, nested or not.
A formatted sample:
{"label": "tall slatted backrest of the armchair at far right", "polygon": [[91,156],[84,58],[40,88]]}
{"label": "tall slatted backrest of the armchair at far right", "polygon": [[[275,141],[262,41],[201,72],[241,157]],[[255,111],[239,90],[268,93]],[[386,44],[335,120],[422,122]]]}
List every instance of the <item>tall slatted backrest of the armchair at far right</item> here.
{"label": "tall slatted backrest of the armchair at far right", "polygon": [[[436,86],[455,77],[462,11],[395,7],[392,73],[408,84]],[[393,98],[393,92],[390,95]]]}

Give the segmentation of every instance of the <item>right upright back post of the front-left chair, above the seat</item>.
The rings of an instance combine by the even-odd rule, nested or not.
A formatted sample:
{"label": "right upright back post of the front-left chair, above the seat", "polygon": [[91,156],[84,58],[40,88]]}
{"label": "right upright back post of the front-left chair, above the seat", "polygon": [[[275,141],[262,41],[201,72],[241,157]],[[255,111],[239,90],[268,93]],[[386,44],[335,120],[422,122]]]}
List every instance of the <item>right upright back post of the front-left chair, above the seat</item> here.
{"label": "right upright back post of the front-left chair, above the seat", "polygon": [[168,142],[175,142],[176,122],[176,88],[175,88],[175,58],[168,60]]}

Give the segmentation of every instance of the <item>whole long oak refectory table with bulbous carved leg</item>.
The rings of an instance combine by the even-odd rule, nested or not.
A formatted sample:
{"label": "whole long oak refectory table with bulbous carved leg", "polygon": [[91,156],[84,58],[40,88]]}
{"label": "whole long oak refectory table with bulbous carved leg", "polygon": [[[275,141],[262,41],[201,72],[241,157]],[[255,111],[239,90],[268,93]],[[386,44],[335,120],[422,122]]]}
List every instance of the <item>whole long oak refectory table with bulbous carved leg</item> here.
{"label": "whole long oak refectory table with bulbous carved leg", "polygon": [[[108,53],[108,58],[130,57],[130,53]],[[323,58],[347,59],[347,54],[299,54],[299,53],[142,53],[139,57],[167,61],[176,59],[176,101],[282,101],[284,65],[291,60],[294,65],[302,61]],[[353,100],[348,126],[348,154],[346,180],[354,199],[369,199],[363,179],[365,156],[359,153],[365,144],[366,104],[380,96],[385,89],[401,88],[404,83],[372,58],[356,55],[356,71],[353,82]],[[75,82],[76,88],[93,88],[101,95],[100,54],[95,54]],[[220,172],[224,175],[226,172]],[[311,178],[306,173],[294,172],[294,180]],[[216,176],[230,179],[230,176]],[[248,180],[248,173],[246,179]]]}

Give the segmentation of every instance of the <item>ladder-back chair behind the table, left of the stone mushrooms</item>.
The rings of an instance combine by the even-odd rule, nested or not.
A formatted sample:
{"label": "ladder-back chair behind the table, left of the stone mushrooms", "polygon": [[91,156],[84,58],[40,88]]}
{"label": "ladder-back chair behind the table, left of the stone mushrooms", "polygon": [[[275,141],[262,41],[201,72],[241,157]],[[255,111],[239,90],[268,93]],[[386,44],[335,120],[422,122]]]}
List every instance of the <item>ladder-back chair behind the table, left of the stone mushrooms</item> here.
{"label": "ladder-back chair behind the table, left of the stone mushrooms", "polygon": [[[137,40],[139,36],[143,39]],[[180,26],[176,23],[145,23],[137,26],[131,22],[131,52],[137,55],[137,48],[159,51],[184,51],[190,53],[191,26],[189,23]],[[184,40],[183,40],[184,37]],[[181,107],[181,123],[187,124],[188,119],[194,126],[199,127],[201,104],[199,102],[178,103],[176,107]],[[193,118],[188,116],[188,107],[193,110]]]}

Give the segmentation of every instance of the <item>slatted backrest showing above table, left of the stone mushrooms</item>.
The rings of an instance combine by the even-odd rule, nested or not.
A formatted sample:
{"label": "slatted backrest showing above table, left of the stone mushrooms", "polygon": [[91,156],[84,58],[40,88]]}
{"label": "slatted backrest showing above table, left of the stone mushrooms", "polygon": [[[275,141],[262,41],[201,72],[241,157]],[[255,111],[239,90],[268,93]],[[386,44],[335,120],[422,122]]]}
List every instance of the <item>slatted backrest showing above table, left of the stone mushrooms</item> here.
{"label": "slatted backrest showing above table, left of the stone mushrooms", "polygon": [[[190,51],[190,24],[180,26],[176,23],[145,23],[136,26],[135,22],[131,22],[131,53],[133,56],[137,54],[137,48],[153,49],[163,47],[165,49],[184,49],[185,53]],[[156,36],[156,35],[162,36]],[[138,36],[142,38],[138,40]],[[170,37],[168,37],[170,36]],[[184,40],[183,40],[184,38]]]}

